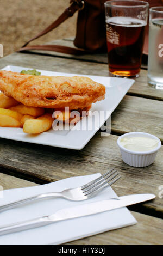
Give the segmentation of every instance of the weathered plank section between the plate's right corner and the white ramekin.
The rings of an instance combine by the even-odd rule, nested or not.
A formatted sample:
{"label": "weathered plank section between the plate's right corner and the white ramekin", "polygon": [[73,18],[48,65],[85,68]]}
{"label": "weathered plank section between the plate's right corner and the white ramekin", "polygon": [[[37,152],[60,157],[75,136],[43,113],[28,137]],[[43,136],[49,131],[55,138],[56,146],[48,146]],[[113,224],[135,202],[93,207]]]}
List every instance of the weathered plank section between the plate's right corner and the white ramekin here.
{"label": "weathered plank section between the plate's right corner and the white ramekin", "polygon": [[148,132],[163,142],[163,102],[135,96],[125,96],[111,115],[111,131]]}

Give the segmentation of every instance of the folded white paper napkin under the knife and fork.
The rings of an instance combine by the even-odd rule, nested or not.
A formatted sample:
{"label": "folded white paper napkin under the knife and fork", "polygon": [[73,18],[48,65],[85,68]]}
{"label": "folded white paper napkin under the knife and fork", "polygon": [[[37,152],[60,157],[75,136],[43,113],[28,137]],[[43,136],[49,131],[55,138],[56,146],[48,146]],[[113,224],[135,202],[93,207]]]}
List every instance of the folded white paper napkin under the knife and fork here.
{"label": "folded white paper napkin under the knife and fork", "polygon": [[[98,173],[68,178],[41,186],[6,190],[3,192],[3,198],[0,198],[0,205],[32,197],[43,192],[59,192],[66,188],[78,187],[96,179],[100,175]],[[72,202],[60,198],[41,200],[0,213],[0,226],[50,215],[60,209],[105,200],[110,197],[116,197],[116,193],[111,187],[99,193],[98,196],[82,202]],[[44,227],[3,235],[0,236],[0,245],[59,245],[136,223],[137,221],[133,215],[124,207],[101,214],[61,221]]]}

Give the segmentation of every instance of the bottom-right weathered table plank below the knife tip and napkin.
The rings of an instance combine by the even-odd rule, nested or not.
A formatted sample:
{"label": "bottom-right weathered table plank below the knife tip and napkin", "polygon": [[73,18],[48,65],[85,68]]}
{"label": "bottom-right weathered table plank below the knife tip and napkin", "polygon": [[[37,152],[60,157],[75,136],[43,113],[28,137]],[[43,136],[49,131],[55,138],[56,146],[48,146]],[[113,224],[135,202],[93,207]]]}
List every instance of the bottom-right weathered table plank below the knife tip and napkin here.
{"label": "bottom-right weathered table plank below the knife tip and napkin", "polygon": [[131,212],[136,225],[90,236],[66,245],[162,245],[163,220]]}

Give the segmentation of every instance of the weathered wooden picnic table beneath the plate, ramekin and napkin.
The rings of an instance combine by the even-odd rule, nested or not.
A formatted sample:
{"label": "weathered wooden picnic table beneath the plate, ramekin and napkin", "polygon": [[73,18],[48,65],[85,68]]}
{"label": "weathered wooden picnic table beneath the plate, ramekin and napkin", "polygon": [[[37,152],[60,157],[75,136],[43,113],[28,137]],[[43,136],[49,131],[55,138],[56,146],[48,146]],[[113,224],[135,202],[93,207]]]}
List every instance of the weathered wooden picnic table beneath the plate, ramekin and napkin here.
{"label": "weathered wooden picnic table beneath the plate, ramekin and napkin", "polygon": [[[72,39],[55,43],[72,46]],[[52,44],[52,42],[51,42]],[[68,56],[46,51],[15,52],[1,58],[0,68],[7,65],[108,76],[106,54]],[[89,175],[115,167],[122,178],[112,185],[118,196],[154,193],[152,201],[130,206],[138,223],[131,227],[108,231],[68,243],[68,245],[162,245],[163,146],[155,162],[146,168],[130,167],[122,161],[117,138],[126,132],[152,133],[163,142],[163,90],[147,85],[147,66],[142,65],[140,77],[111,115],[111,135],[100,132],[83,150],[68,150],[45,145],[0,139],[0,185],[4,189],[35,186],[71,176]]]}

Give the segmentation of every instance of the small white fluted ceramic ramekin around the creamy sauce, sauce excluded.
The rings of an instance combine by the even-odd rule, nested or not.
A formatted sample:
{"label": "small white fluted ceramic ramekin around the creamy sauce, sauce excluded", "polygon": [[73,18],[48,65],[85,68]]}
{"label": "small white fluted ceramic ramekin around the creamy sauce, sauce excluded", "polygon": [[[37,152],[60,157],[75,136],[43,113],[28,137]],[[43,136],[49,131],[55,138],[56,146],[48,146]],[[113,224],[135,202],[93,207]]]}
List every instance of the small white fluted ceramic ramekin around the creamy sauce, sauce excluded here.
{"label": "small white fluted ceramic ramekin around the creamy sauce, sauce excluded", "polygon": [[[124,148],[121,145],[121,139],[124,137],[148,137],[158,140],[158,147],[156,147],[153,150],[145,151],[145,152],[139,152],[139,151],[131,151],[126,148]],[[129,166],[133,167],[146,167],[152,164],[155,160],[156,154],[158,153],[158,150],[161,147],[161,141],[159,138],[155,137],[154,135],[151,135],[149,133],[145,132],[129,132],[125,133],[124,135],[120,136],[117,140],[118,147],[120,148],[122,160],[129,164]]]}

